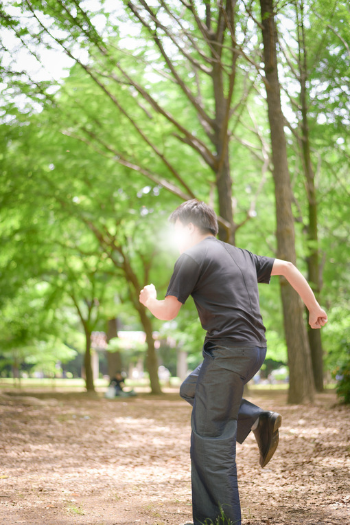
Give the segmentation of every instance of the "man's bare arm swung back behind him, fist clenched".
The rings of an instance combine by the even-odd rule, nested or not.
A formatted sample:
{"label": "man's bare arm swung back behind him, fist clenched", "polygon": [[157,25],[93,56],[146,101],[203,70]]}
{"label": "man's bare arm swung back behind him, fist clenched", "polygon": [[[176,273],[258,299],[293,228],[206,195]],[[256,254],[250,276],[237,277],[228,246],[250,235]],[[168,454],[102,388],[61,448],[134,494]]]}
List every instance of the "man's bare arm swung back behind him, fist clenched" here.
{"label": "man's bare arm swung back behind him, fist clenched", "polygon": [[310,312],[309,324],[311,328],[320,328],[327,323],[327,313],[316,301],[314,292],[310,288],[303,274],[292,263],[286,260],[275,259],[271,271],[272,276],[284,276],[292,285],[294,290],[299,293]]}

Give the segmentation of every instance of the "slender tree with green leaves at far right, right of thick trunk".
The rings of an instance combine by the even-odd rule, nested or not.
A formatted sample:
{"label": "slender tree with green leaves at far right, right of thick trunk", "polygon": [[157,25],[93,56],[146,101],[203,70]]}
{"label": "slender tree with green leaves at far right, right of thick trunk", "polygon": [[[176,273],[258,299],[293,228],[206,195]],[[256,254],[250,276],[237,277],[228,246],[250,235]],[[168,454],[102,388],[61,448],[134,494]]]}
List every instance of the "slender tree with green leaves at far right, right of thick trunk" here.
{"label": "slender tree with green leaves at far right, right of thick trunk", "polygon": [[[283,52],[283,74],[290,78],[284,82],[293,120],[287,122],[290,136],[289,156],[294,157],[294,199],[298,206],[297,220],[303,225],[306,237],[305,260],[307,275],[316,298],[320,300],[323,286],[323,266],[319,241],[319,212],[325,193],[329,193],[329,179],[325,165],[325,144],[330,139],[325,131],[336,127],[335,138],[327,143],[336,149],[336,141],[342,142],[347,135],[345,108],[349,98],[344,92],[349,77],[349,46],[347,24],[349,17],[345,6],[338,2],[324,3],[300,0],[283,10],[284,16],[293,21],[291,28],[283,27],[283,15],[279,33],[279,45]],[[346,90],[346,88],[345,88]],[[325,120],[327,113],[327,120]],[[340,137],[339,137],[340,134]],[[337,136],[338,135],[338,136]],[[327,137],[326,141],[322,137]],[[293,142],[293,139],[296,139]],[[327,154],[326,154],[327,155]],[[298,160],[299,159],[299,160]],[[327,179],[327,183],[326,183]],[[328,186],[328,187],[327,187]],[[332,183],[331,183],[332,186]],[[324,188],[324,190],[323,190]],[[323,199],[320,198],[323,195]],[[306,199],[305,199],[306,196]],[[325,209],[325,206],[323,206]],[[322,225],[321,225],[322,227]],[[320,331],[308,330],[314,381],[318,391],[323,390],[323,347]]]}

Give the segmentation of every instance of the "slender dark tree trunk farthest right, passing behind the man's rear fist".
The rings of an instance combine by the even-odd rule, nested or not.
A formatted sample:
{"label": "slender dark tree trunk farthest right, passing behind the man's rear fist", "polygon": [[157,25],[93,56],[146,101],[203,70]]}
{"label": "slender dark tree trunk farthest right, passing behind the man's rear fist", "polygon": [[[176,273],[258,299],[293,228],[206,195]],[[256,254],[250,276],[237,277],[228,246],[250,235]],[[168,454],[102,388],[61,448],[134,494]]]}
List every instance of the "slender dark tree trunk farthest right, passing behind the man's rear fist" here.
{"label": "slender dark tree trunk farthest right, passing behind the man's rear fist", "polygon": [[[303,9],[303,5],[301,5]],[[309,255],[307,256],[307,273],[310,286],[316,299],[320,295],[320,265],[318,252],[318,218],[317,218],[317,195],[315,188],[315,174],[312,167],[310,155],[309,123],[307,119],[307,60],[305,34],[303,25],[303,12],[301,12],[301,35],[299,35],[299,67],[301,84],[301,150],[303,152],[303,165],[306,178],[306,191],[308,201],[309,221],[307,226],[307,240]],[[312,357],[312,371],[316,390],[323,392],[323,348],[320,330],[313,330],[308,326],[308,336]]]}

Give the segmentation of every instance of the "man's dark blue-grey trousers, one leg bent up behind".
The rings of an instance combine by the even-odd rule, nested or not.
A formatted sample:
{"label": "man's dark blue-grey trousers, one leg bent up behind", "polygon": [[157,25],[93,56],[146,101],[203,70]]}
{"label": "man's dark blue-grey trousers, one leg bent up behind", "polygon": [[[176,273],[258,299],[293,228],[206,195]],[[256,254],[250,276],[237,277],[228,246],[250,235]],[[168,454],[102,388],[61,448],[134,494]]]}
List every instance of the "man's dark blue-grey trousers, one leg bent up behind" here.
{"label": "man's dark blue-grey trousers, one leg bent up behind", "polygon": [[191,416],[191,481],[194,525],[215,522],[220,506],[233,524],[241,525],[235,462],[236,440],[243,443],[263,412],[242,399],[244,384],[264,363],[266,348],[206,344],[204,361],[180,387],[193,405]]}

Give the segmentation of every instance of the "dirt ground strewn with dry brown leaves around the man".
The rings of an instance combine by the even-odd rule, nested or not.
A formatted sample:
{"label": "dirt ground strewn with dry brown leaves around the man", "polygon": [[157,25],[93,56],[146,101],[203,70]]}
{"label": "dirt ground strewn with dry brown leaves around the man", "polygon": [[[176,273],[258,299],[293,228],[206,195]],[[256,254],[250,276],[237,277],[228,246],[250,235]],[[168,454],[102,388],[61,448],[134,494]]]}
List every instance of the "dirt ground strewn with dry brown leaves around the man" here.
{"label": "dirt ground strewn with dry brown leaves around the man", "polygon": [[[285,394],[254,403],[283,415],[261,469],[253,436],[238,446],[243,525],[350,524],[350,410]],[[0,394],[0,524],[191,522],[189,418],[178,394],[109,401],[86,394]]]}

